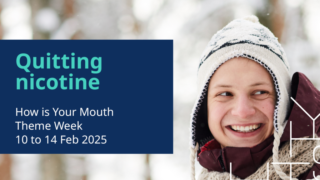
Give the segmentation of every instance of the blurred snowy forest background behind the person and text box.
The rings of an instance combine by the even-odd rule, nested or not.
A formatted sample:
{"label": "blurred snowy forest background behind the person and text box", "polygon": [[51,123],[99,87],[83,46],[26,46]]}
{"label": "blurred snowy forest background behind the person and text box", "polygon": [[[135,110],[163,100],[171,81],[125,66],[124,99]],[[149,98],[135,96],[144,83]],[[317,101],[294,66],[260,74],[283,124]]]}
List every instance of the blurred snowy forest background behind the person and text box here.
{"label": "blurred snowy forest background behind the person and text box", "polygon": [[[320,87],[318,0],[0,0],[0,5],[1,39],[174,43],[173,154],[3,154],[0,180],[189,179],[189,119],[200,55],[213,34],[246,15],[257,15],[279,38],[291,74],[305,73]],[[196,162],[196,177],[200,170]]]}

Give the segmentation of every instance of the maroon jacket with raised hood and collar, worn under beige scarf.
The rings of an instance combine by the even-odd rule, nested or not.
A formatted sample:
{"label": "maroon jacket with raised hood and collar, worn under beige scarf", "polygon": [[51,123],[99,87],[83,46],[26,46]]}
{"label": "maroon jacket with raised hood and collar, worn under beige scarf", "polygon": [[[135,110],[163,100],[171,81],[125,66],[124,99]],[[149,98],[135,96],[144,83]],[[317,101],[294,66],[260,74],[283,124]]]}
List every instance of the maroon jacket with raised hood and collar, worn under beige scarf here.
{"label": "maroon jacket with raised hood and collar, worn under beige scarf", "polygon": [[[302,73],[296,72],[292,77],[292,98],[315,118],[320,113],[320,92],[312,85],[310,80]],[[292,121],[292,138],[312,136],[313,120],[301,108],[291,101],[291,112],[284,133],[280,139],[283,144],[290,140],[290,121]],[[320,118],[315,120],[315,132],[320,135]],[[225,147],[221,149],[220,143],[215,139],[206,143],[197,151],[199,163],[209,171],[230,172],[244,179],[258,170],[258,168],[272,155],[274,136],[271,135],[262,143],[252,147]],[[280,144],[281,145],[281,144]],[[298,179],[313,179],[320,175],[320,164],[314,166]]]}

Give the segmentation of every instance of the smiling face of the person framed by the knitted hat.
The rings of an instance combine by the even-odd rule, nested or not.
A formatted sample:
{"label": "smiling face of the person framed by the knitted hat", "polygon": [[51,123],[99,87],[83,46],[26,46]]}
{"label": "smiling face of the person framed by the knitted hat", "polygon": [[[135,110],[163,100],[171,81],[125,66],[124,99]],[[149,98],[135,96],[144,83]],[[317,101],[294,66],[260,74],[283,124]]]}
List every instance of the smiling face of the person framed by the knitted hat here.
{"label": "smiling face of the person framed by the knitted hat", "polygon": [[208,124],[221,147],[253,147],[273,134],[276,91],[271,74],[239,57],[223,63],[208,88]]}

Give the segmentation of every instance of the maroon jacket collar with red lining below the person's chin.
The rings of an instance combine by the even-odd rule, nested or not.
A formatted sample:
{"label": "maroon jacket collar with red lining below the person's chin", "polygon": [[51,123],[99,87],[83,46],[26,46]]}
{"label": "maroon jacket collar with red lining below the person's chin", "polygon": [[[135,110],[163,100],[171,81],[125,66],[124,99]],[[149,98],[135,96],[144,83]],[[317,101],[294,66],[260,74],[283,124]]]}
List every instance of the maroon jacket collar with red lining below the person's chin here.
{"label": "maroon jacket collar with red lining below the person's chin", "polygon": [[[256,172],[257,169],[272,155],[274,136],[268,137],[262,143],[252,147],[225,147],[215,139],[206,143],[198,153],[198,161],[209,171],[230,172],[244,179]],[[212,149],[211,149],[212,148]]]}

